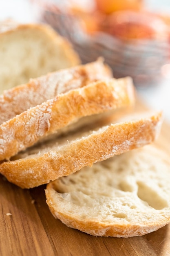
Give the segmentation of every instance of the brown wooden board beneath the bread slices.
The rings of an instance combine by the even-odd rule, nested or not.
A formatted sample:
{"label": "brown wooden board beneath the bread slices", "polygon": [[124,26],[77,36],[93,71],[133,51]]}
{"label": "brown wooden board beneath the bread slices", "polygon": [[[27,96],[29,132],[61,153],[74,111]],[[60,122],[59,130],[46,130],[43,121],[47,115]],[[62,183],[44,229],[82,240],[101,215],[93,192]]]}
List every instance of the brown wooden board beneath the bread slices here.
{"label": "brown wooden board beneath the bread slices", "polygon": [[[170,153],[170,125],[163,124],[157,144]],[[0,256],[170,255],[170,225],[141,237],[90,236],[55,220],[44,189],[23,190],[0,175]]]}

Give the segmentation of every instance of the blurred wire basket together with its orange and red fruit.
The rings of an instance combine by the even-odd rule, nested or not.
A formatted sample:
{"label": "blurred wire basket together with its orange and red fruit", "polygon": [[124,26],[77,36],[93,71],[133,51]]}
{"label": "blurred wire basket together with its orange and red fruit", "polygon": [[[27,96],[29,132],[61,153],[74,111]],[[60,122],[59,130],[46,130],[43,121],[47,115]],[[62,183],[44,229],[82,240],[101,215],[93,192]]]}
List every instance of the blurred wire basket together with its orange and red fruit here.
{"label": "blurred wire basket together with its orange and red fruit", "polygon": [[40,21],[68,38],[82,63],[103,56],[115,78],[131,76],[142,87],[157,84],[167,73],[170,18],[146,11],[144,0],[45,2]]}

